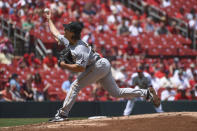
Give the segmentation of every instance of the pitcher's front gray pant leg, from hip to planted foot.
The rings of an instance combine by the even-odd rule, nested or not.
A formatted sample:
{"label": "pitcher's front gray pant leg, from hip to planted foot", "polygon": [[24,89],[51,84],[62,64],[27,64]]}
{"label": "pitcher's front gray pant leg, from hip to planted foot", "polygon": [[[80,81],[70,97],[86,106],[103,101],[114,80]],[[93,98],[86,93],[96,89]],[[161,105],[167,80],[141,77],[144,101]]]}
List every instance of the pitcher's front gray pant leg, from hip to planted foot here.
{"label": "pitcher's front gray pant leg, from hip to planted foot", "polygon": [[75,103],[80,89],[103,78],[109,71],[110,63],[107,62],[106,59],[102,58],[79,75],[78,78],[71,84],[70,90],[64,100],[63,107],[60,112],[67,116]]}

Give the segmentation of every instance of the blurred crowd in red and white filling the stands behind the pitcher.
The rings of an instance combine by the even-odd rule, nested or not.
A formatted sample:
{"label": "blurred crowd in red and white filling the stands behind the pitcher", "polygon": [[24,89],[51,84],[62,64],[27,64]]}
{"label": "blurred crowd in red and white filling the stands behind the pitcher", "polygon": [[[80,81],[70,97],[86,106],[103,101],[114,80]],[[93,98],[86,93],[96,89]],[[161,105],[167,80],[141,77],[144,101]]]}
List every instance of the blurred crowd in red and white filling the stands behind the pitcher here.
{"label": "blurred crowd in red and white filling the stands behind the pitcher", "polygon": [[[160,0],[144,0],[149,4],[158,4]],[[151,3],[152,2],[152,3]],[[163,0],[163,6],[170,6],[170,0]],[[161,4],[161,3],[159,3]],[[112,64],[113,77],[120,88],[129,87],[132,73],[135,68],[143,66],[144,72],[152,77],[152,84],[162,100],[196,100],[197,97],[197,61],[195,59],[164,59],[146,58],[143,43],[132,40],[115,41],[117,46],[110,47],[108,43],[100,40],[96,43],[97,34],[113,34],[117,37],[137,37],[143,33],[152,33],[154,36],[179,34],[175,28],[176,23],[169,25],[164,17],[162,21],[155,21],[147,12],[131,11],[118,0],[0,0],[0,15],[7,18],[12,27],[22,27],[27,36],[32,30],[48,31],[47,22],[43,16],[43,9],[50,8],[53,21],[60,31],[62,23],[69,21],[82,21],[84,31],[82,39],[93,46],[103,57]],[[133,14],[130,14],[133,12]],[[177,17],[181,17],[180,14]],[[190,27],[197,26],[196,12],[184,14],[190,21]],[[67,18],[66,21],[65,19]],[[95,23],[96,22],[96,23]],[[196,29],[196,28],[195,28]],[[51,100],[49,89],[54,88],[50,82],[45,82],[40,72],[27,73],[24,81],[19,79],[20,74],[3,68],[3,65],[12,68],[35,69],[50,72],[52,69],[60,70],[57,66],[57,51],[48,49],[44,59],[36,57],[32,52],[22,57],[14,56],[12,42],[4,37],[0,31],[0,99],[1,101],[44,101]],[[121,44],[119,44],[119,42]],[[113,40],[112,40],[113,43]],[[123,44],[124,43],[124,44]],[[122,48],[119,48],[122,45]],[[54,52],[53,52],[54,51]],[[126,62],[126,63],[125,63]],[[2,66],[2,67],[1,67]],[[11,73],[5,78],[6,71]],[[68,73],[67,73],[68,74]],[[61,90],[65,94],[74,76],[65,79]],[[89,97],[91,100],[115,100],[102,89],[99,83],[93,84]]]}

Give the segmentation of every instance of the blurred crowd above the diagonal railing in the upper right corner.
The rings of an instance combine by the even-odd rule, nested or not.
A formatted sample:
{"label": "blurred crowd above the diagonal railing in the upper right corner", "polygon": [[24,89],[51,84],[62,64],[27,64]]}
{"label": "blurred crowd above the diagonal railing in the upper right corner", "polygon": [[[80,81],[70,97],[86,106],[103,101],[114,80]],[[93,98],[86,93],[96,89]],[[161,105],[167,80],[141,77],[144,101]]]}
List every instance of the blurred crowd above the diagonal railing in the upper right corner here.
{"label": "blurred crowd above the diagonal railing in the upper right corner", "polygon": [[148,4],[155,7],[159,7],[160,9],[166,11],[166,13],[168,13],[169,16],[185,21],[191,31],[194,32],[197,31],[197,12],[196,12],[197,6],[195,0],[191,0],[191,1],[142,0],[142,1],[144,5]]}

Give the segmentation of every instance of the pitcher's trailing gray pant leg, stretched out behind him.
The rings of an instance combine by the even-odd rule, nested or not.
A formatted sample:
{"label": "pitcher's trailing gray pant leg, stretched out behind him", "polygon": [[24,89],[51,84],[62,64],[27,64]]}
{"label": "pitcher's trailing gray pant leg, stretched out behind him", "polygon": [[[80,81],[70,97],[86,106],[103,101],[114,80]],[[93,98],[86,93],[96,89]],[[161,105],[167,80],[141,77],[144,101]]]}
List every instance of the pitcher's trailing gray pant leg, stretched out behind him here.
{"label": "pitcher's trailing gray pant leg, stretched out behind him", "polygon": [[135,97],[146,97],[147,95],[147,89],[119,88],[112,77],[111,70],[99,82],[113,97],[124,97],[131,99]]}

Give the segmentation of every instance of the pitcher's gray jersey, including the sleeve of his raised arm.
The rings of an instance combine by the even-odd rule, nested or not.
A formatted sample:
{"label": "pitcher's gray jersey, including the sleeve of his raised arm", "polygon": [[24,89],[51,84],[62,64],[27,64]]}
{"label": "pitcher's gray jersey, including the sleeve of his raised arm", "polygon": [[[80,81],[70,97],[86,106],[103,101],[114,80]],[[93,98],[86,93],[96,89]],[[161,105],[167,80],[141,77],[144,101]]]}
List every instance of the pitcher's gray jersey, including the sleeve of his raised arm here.
{"label": "pitcher's gray jersey, including the sleeve of his raised arm", "polygon": [[78,40],[75,45],[70,45],[69,41],[63,35],[59,35],[58,39],[66,48],[70,48],[75,63],[84,68],[95,63],[97,57],[99,57],[99,54],[94,52],[92,48],[82,40]]}

